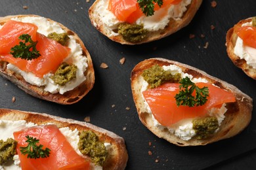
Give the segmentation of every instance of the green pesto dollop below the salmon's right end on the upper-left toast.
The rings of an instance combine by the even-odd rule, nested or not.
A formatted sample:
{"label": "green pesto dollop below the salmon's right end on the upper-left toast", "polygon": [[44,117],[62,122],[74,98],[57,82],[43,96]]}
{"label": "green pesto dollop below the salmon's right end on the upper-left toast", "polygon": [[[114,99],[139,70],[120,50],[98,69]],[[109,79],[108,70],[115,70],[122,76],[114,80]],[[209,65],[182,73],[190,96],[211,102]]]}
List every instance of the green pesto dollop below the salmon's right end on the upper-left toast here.
{"label": "green pesto dollop below the salmon's right end on the upper-left toast", "polygon": [[64,62],[60,65],[60,67],[58,67],[51,78],[56,84],[64,86],[67,82],[75,78],[76,71],[76,65]]}

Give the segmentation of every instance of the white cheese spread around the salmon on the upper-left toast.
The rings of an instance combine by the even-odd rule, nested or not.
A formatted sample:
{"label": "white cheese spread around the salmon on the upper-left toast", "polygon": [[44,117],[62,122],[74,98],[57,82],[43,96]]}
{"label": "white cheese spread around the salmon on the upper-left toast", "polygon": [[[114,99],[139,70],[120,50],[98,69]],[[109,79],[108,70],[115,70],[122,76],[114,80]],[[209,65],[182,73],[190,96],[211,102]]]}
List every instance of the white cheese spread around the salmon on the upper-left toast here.
{"label": "white cheese spread around the salmon on the upper-left toast", "polygon": [[[37,32],[47,36],[49,33],[56,32],[56,33],[64,33],[64,30],[58,25],[56,22],[50,23],[46,18],[43,17],[23,17],[23,18],[12,18],[12,20],[16,20],[18,22],[28,22],[37,25],[38,30]],[[0,28],[1,29],[1,28]],[[33,73],[28,73],[26,71],[20,70],[15,65],[9,63],[7,65],[7,69],[14,71],[24,77],[26,82],[33,84],[35,86],[44,86],[45,91],[50,93],[60,93],[63,94],[70,90],[76,88],[79,84],[85,81],[85,75],[83,74],[88,65],[87,65],[87,58],[83,56],[82,48],[79,44],[75,42],[75,38],[72,35],[69,35],[70,40],[68,41],[68,47],[71,49],[71,52],[64,61],[68,63],[73,63],[77,66],[77,73],[76,77],[73,78],[70,82],[66,83],[64,86],[59,86],[55,84],[53,80],[50,78],[53,73],[47,73],[43,76],[43,78],[39,78],[35,76]]]}

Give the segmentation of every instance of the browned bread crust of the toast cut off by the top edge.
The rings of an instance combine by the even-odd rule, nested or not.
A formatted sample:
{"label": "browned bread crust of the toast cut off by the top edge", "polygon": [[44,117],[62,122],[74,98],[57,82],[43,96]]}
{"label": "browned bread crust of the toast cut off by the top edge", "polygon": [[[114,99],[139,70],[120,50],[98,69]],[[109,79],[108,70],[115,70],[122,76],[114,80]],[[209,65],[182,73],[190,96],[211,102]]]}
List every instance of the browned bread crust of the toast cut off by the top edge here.
{"label": "browned bread crust of the toast cut off by the top edge", "polygon": [[190,23],[202,3],[202,0],[192,0],[191,4],[187,7],[188,9],[186,10],[186,12],[184,12],[180,20],[170,19],[169,24],[165,26],[164,29],[160,29],[158,31],[150,31],[148,33],[148,36],[140,42],[128,42],[125,41],[121,35],[111,35],[110,33],[112,30],[110,29],[110,27],[106,26],[106,24],[102,22],[102,18],[100,18],[100,8],[102,8],[100,7],[100,5],[102,4],[102,1],[104,0],[96,0],[95,3],[93,3],[93,5],[90,7],[89,18],[91,19],[91,23],[96,27],[96,29],[98,29],[98,31],[100,31],[100,33],[102,33],[112,41],[130,45],[156,41],[158,39],[162,39],[163,37],[167,37],[168,35],[171,35],[176,31],[179,31],[179,29],[185,27]]}

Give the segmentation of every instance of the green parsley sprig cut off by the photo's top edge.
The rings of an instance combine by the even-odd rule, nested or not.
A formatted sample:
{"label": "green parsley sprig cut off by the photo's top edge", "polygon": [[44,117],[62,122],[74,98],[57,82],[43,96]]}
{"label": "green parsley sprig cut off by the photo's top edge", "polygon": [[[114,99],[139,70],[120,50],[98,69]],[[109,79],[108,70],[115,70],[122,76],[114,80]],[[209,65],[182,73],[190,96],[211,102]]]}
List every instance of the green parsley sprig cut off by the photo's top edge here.
{"label": "green parsley sprig cut off by the photo's top edge", "polygon": [[137,0],[139,7],[146,16],[154,15],[154,3],[158,3],[159,7],[163,5],[163,0]]}

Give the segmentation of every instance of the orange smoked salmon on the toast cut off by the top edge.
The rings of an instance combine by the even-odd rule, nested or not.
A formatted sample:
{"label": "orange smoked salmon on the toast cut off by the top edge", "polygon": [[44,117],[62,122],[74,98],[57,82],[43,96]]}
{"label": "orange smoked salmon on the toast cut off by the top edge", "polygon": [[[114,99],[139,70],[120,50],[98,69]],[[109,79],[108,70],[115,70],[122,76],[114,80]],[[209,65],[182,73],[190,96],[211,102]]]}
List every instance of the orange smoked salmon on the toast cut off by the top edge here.
{"label": "orange smoked salmon on the toast cut off by the top edge", "polygon": [[[163,0],[161,8],[169,7],[170,5],[177,5],[182,0]],[[160,7],[154,3],[154,10],[159,10]],[[108,3],[108,10],[110,10],[121,22],[129,22],[132,24],[144,14],[137,3],[137,0],[110,0]]]}

